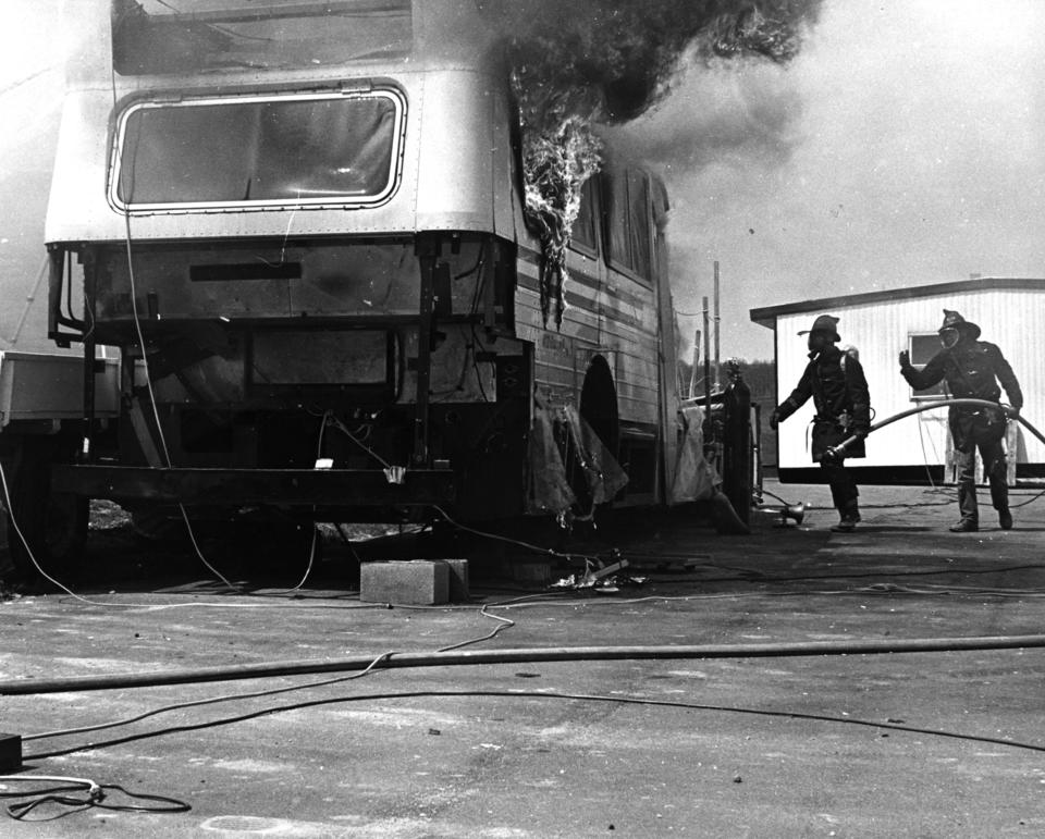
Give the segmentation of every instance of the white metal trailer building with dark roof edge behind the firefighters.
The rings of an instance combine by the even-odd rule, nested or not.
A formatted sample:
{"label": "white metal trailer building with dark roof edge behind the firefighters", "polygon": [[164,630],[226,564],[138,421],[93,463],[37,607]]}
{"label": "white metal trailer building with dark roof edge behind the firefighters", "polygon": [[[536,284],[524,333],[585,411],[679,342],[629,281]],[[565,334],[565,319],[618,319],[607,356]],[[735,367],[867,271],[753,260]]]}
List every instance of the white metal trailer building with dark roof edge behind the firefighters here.
{"label": "white metal trailer building with dark roof edge behind the firefighters", "polygon": [[[774,331],[777,404],[809,362],[804,336],[817,314],[839,318],[839,347],[859,351],[871,392],[872,422],[946,398],[945,385],[913,392],[899,372],[901,349],[924,365],[941,348],[937,330],[944,308],[956,309],[982,329],[981,341],[997,344],[1023,391],[1023,416],[1045,427],[1045,280],[979,277],[884,292],[825,297],[752,309],[751,320]],[[1007,399],[1003,392],[1003,402]],[[779,478],[819,483],[820,467],[809,453],[812,399],[779,427]],[[868,439],[865,459],[848,461],[858,482],[926,484],[952,481],[947,409],[899,420]],[[1045,445],[1010,422],[1007,436],[1010,483],[1045,477]]]}

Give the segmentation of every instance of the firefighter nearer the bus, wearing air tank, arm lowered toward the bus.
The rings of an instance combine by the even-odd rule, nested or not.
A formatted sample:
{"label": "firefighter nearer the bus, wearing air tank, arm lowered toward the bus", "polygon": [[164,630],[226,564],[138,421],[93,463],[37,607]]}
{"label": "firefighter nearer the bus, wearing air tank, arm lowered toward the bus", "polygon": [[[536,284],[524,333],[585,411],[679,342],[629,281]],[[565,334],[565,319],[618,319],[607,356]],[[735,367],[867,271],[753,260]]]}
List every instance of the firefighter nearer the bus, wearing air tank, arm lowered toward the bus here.
{"label": "firefighter nearer the bus, wearing air tank, arm lowered toward the bus", "polygon": [[[852,474],[846,471],[844,459],[863,457],[863,439],[871,427],[871,399],[863,368],[855,353],[843,353],[835,344],[840,341],[838,319],[821,314],[813,328],[799,335],[809,335],[809,365],[798,386],[770,415],[770,428],[777,425],[813,397],[816,416],[813,418],[813,461],[823,469],[831,486],[831,496],[840,520],[832,530],[848,533],[860,521],[860,492]],[[858,440],[845,451],[836,446],[849,436]]]}

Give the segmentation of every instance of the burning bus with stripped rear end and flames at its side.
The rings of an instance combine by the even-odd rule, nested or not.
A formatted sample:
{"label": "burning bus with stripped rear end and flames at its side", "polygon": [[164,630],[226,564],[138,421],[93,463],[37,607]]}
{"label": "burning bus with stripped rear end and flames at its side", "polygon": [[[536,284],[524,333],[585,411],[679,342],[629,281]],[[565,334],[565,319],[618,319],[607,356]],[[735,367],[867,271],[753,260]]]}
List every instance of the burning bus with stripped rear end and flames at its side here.
{"label": "burning bus with stripped rear end and flames at its side", "polygon": [[9,508],[38,559],[75,556],[88,498],[273,538],[664,501],[664,188],[602,149],[534,211],[481,3],[64,15],[49,336],[76,351],[0,373]]}

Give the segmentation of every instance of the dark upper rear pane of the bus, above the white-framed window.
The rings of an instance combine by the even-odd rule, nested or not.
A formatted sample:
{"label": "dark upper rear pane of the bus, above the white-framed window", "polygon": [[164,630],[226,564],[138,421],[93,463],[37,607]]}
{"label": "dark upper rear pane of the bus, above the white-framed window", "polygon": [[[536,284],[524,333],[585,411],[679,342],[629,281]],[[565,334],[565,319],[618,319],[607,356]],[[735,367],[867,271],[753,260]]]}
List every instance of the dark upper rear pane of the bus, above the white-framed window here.
{"label": "dark upper rear pane of the bus, above the white-framed window", "polygon": [[294,70],[413,47],[411,0],[113,0],[121,75]]}

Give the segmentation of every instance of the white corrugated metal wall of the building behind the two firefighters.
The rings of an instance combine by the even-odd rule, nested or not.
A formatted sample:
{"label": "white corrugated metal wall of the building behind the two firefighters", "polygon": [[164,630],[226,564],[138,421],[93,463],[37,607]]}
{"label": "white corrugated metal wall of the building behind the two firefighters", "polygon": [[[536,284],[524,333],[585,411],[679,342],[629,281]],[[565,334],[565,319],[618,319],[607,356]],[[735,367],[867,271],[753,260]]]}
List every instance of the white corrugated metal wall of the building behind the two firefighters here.
{"label": "white corrugated metal wall of the building behind the two firefighters", "polygon": [[[856,346],[868,377],[871,406],[877,420],[914,407],[911,388],[900,375],[897,356],[909,347],[909,336],[935,333],[944,307],[957,309],[983,330],[981,341],[997,344],[1012,366],[1023,390],[1023,416],[1045,429],[1045,292],[1038,289],[978,289],[946,296],[925,296],[841,306],[826,312],[777,317],[777,388],[783,400],[798,383],[809,359],[806,337],[816,314],[840,318],[839,346]],[[1003,400],[1007,400],[1003,393]],[[780,424],[782,469],[809,467],[807,428],[812,400]],[[868,457],[859,466],[943,465],[947,454],[947,411],[925,411],[876,431],[868,440]],[[1019,430],[1017,461],[1045,462],[1045,445]]]}

